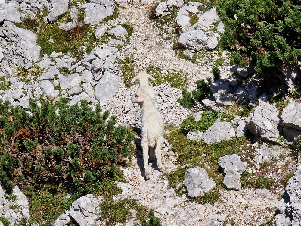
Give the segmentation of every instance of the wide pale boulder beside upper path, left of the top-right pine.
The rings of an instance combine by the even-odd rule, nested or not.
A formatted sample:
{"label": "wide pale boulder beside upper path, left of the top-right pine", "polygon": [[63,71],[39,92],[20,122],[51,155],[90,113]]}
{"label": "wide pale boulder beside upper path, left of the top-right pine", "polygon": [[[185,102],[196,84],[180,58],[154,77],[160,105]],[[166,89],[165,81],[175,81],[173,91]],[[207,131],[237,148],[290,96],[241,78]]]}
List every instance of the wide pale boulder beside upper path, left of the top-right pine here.
{"label": "wide pale boulder beside upper path, left of the top-right pine", "polygon": [[182,33],[178,43],[185,49],[194,51],[199,51],[201,49],[214,49],[218,44],[216,37],[208,37],[200,30],[191,30]]}

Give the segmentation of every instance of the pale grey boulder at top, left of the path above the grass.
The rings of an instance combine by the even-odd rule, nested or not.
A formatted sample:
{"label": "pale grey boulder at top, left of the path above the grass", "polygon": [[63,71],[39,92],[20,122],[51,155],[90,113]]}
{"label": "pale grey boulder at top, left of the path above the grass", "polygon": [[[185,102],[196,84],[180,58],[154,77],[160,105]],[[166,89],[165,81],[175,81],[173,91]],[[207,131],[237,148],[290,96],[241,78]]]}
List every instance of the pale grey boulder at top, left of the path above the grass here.
{"label": "pale grey boulder at top, left of the path above the grass", "polygon": [[113,15],[114,9],[111,6],[89,3],[85,9],[84,21],[86,24],[95,25],[104,20],[104,18]]}

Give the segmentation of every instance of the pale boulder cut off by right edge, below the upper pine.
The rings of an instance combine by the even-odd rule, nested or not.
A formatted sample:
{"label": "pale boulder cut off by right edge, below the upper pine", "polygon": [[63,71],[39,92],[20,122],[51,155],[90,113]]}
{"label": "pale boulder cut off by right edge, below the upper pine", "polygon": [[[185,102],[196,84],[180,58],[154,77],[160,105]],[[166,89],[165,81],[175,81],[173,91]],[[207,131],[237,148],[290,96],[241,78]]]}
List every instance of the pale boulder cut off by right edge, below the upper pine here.
{"label": "pale boulder cut off by right edge, below the upper pine", "polygon": [[301,101],[290,99],[280,117],[283,119],[284,125],[301,130]]}

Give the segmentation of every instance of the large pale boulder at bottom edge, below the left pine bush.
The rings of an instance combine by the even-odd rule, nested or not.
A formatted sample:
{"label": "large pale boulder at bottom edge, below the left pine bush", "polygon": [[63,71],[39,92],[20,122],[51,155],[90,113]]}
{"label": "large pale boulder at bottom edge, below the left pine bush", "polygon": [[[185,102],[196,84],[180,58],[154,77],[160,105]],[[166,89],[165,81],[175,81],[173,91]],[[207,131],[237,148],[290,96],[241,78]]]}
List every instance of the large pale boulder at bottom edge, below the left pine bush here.
{"label": "large pale boulder at bottom edge, below the left pine bush", "polygon": [[80,226],[100,225],[98,218],[99,202],[92,194],[80,197],[70,206],[69,215]]}

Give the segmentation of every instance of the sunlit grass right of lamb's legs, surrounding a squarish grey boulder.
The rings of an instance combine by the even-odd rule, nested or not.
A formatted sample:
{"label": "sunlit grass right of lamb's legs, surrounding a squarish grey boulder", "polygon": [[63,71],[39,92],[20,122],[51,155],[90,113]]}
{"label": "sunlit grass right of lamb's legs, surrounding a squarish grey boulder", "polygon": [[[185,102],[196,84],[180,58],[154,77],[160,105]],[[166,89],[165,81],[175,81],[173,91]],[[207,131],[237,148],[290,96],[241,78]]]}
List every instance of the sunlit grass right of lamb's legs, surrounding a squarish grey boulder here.
{"label": "sunlit grass right of lamb's legs, surrounding a squarish grey boulder", "polygon": [[[224,175],[219,173],[219,157],[231,154],[241,155],[241,146],[248,143],[246,137],[235,137],[232,140],[205,145],[203,141],[197,142],[188,140],[180,129],[172,131],[167,136],[169,143],[172,144],[172,151],[178,153],[179,164],[188,164],[188,166],[185,168],[180,167],[171,173],[165,174],[167,180],[169,181],[169,186],[175,188],[175,192],[178,195],[183,194],[182,182],[184,180],[186,168],[193,168],[196,166],[206,169],[209,177],[212,177],[216,182],[217,188],[225,188],[225,185],[223,184]],[[202,157],[202,154],[204,153],[206,154],[205,158]],[[210,166],[210,168],[208,169],[207,166]],[[245,184],[247,185],[247,183]],[[200,203],[204,202],[204,200],[213,202],[216,196],[218,196],[218,194],[215,191],[204,199],[200,198],[199,201]]]}

